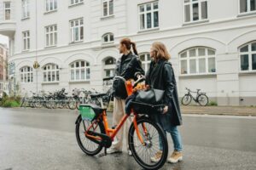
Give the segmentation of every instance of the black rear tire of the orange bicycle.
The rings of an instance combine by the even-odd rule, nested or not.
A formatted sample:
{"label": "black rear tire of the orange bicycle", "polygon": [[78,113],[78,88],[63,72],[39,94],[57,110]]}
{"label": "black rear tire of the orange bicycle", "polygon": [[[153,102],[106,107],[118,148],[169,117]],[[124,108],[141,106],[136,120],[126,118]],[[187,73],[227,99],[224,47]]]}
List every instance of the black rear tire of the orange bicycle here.
{"label": "black rear tire of the orange bicycle", "polygon": [[[84,136],[84,140],[83,140],[83,141],[86,140],[86,141],[88,141],[88,142],[91,142],[91,144],[97,145],[96,150],[89,150],[88,148],[85,148],[85,146],[84,146],[84,144],[82,143],[82,140],[81,140],[81,138],[80,138],[80,135],[79,135],[79,134],[80,134],[80,125],[82,125],[81,122],[84,122],[84,121],[82,120],[81,116],[79,116],[79,120],[78,120],[78,122],[77,122],[77,124],[76,124],[76,139],[77,139],[77,141],[78,141],[78,143],[79,143],[79,147],[80,147],[80,149],[83,150],[84,153],[87,154],[88,156],[95,156],[96,154],[98,154],[98,153],[102,150],[103,146],[102,146],[101,144],[96,144],[96,143],[90,141],[90,139],[87,139],[87,138]],[[90,122],[90,121],[89,121],[89,122]],[[103,125],[103,122],[97,122],[97,123],[98,123],[98,127],[99,127],[99,130],[100,130],[100,132],[98,132],[98,133],[104,133],[104,134],[105,134],[105,127],[104,127],[104,125]],[[84,128],[84,127],[83,127],[83,128]],[[85,128],[86,128],[86,127],[85,127]],[[83,133],[84,133],[84,132],[83,132]]]}

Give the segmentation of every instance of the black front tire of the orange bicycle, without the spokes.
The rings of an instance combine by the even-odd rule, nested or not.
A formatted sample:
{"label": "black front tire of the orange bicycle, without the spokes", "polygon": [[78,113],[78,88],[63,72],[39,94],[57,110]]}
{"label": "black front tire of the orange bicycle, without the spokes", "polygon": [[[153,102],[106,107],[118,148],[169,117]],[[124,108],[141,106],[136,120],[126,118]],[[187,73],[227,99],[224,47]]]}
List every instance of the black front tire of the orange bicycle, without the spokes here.
{"label": "black front tire of the orange bicycle, without the spokes", "polygon": [[[162,141],[163,150],[162,150],[162,156],[160,158],[160,161],[158,161],[158,162],[151,161],[151,157],[154,156],[154,155],[151,155],[150,151],[154,150],[155,147],[159,148],[159,145],[156,144],[157,146],[155,146],[155,144],[152,144],[152,139],[155,139],[155,137],[154,136],[151,137],[150,133],[149,133],[149,135],[148,134],[143,135],[144,141],[145,141],[145,138],[148,138],[148,139],[146,139],[147,144],[146,145],[141,144],[141,142],[138,139],[137,139],[138,144],[136,144],[136,141],[134,141],[134,137],[135,136],[137,137],[137,133],[136,133],[136,130],[135,130],[135,127],[134,127],[133,123],[131,124],[131,127],[129,129],[129,136],[128,136],[129,147],[130,147],[130,150],[131,150],[131,153],[132,153],[134,159],[137,161],[137,163],[141,167],[143,167],[144,169],[150,169],[150,170],[151,169],[159,169],[160,167],[162,167],[166,163],[166,159],[167,159],[167,156],[168,156],[168,144],[167,144],[166,135],[165,135],[163,129],[160,127],[160,125],[158,123],[152,121],[148,117],[143,116],[143,117],[140,117],[140,118],[137,119],[137,127],[140,127],[140,126],[142,127],[143,124],[146,127],[146,125],[147,125],[146,123],[152,126],[150,128],[147,128],[148,131],[152,130],[152,128],[154,127],[156,132],[158,133],[156,135],[156,138],[159,140],[159,142],[160,142],[160,139]],[[152,134],[153,133],[151,133],[151,135]],[[140,145],[140,146],[136,146],[136,145]],[[148,154],[148,151],[149,151],[149,157],[146,158],[149,161],[149,163],[143,161],[143,156],[145,156],[145,155],[139,156],[138,151],[142,150],[142,149],[140,148],[139,150],[136,150],[135,147],[143,147],[143,149],[146,149],[147,154]],[[155,151],[157,152],[157,151],[159,151],[159,149],[156,149]],[[156,152],[154,154],[156,154]]]}

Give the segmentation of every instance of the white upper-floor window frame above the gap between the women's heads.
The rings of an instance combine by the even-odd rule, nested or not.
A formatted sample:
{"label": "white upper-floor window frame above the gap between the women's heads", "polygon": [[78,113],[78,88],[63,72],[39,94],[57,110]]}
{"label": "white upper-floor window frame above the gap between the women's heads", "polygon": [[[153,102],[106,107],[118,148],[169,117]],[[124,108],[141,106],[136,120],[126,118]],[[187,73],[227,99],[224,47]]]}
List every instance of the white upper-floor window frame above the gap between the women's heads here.
{"label": "white upper-floor window frame above the gap between the women's heads", "polygon": [[[157,9],[154,9],[154,3],[157,3]],[[149,13],[149,11],[147,11],[147,4],[151,4],[151,10],[150,11],[150,17],[151,17],[151,28],[148,28],[147,25],[147,14]],[[140,7],[144,6],[144,11],[141,12],[140,11]],[[138,30],[139,31],[150,31],[150,30],[154,30],[154,29],[158,29],[160,28],[160,10],[159,10],[159,0],[158,1],[152,1],[149,3],[142,3],[142,4],[138,4],[137,5],[137,11],[138,11]],[[154,12],[158,13],[158,26],[154,26]],[[141,27],[141,14],[144,15],[144,28],[142,29]]]}

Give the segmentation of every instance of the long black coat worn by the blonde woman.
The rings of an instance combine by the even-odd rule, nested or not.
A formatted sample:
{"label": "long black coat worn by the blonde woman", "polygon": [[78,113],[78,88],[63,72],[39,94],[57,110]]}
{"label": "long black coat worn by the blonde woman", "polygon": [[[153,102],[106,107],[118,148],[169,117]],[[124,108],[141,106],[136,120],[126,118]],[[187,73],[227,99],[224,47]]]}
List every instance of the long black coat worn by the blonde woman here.
{"label": "long black coat worn by the blonde woman", "polygon": [[163,103],[168,105],[169,109],[165,115],[158,114],[161,116],[160,120],[165,120],[161,124],[164,127],[168,127],[169,124],[172,126],[181,125],[182,116],[172,64],[165,60],[159,60],[157,63],[152,61],[149,71],[147,72],[146,84],[148,84],[150,88],[165,90]]}

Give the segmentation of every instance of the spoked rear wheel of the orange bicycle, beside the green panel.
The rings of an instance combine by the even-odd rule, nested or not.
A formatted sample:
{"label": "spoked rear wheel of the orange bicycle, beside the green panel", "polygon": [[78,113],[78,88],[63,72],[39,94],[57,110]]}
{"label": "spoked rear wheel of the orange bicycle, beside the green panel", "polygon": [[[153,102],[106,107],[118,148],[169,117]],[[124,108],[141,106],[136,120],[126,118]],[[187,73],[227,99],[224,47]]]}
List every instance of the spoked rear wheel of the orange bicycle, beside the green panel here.
{"label": "spoked rear wheel of the orange bicycle, beside the green panel", "polygon": [[[76,124],[76,138],[79,143],[79,147],[89,156],[95,156],[102,150],[102,145],[96,144],[85,136],[86,129],[91,125],[90,121],[82,120],[79,116]],[[92,128],[93,129],[93,128]],[[105,128],[102,122],[97,122],[93,132],[105,133]]]}

